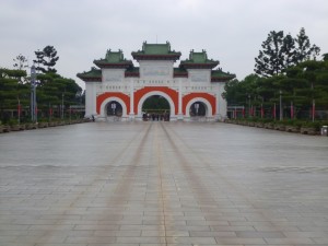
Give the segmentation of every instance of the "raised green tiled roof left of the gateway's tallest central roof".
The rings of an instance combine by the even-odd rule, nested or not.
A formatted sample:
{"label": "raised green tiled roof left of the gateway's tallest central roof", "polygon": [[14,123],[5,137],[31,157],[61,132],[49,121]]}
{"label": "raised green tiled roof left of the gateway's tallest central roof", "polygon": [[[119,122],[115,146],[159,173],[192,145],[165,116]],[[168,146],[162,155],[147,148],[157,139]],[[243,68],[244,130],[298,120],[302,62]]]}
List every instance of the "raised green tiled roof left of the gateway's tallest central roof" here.
{"label": "raised green tiled roof left of the gateway's tallest central roof", "polygon": [[124,58],[122,50],[112,51],[107,50],[105,59],[94,60],[93,61],[99,68],[128,68],[133,66],[131,60]]}

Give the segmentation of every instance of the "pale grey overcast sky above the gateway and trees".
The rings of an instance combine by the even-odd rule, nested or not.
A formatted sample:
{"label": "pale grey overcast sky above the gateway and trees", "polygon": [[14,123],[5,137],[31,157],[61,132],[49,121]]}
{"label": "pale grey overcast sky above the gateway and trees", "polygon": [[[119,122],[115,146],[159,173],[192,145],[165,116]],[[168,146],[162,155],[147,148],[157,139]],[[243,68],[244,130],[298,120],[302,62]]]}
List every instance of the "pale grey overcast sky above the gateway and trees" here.
{"label": "pale grey overcast sky above the gateway and trees", "polygon": [[[125,58],[142,43],[171,43],[181,59],[206,49],[223,71],[242,80],[270,31],[296,36],[328,52],[327,0],[1,0],[0,67],[12,68],[22,54],[30,65],[47,45],[59,55],[58,73],[74,79],[106,50]],[[176,66],[178,62],[176,62]]]}

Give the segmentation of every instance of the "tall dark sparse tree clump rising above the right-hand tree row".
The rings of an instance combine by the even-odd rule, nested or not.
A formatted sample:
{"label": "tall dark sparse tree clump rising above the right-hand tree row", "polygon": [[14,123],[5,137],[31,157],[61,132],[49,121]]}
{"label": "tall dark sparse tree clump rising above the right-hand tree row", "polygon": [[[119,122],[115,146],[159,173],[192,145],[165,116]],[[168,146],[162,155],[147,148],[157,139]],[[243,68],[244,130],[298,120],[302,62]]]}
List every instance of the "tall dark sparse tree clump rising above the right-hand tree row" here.
{"label": "tall dark sparse tree clump rising above the right-hand tree row", "polygon": [[283,31],[271,31],[261,47],[262,50],[259,50],[258,57],[255,58],[254,71],[266,78],[279,75],[291,66],[315,59],[320,51],[316,45],[311,46],[303,27],[296,38],[290,34],[284,36]]}

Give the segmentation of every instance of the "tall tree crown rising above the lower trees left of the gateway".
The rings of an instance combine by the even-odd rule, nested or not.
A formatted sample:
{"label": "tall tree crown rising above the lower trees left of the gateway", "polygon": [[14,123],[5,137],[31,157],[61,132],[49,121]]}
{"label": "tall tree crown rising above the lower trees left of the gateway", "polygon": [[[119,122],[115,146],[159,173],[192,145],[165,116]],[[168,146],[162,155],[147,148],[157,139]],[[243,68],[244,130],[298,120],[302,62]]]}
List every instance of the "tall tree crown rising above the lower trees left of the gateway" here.
{"label": "tall tree crown rising above the lower trees left of the gateway", "polygon": [[[54,46],[46,46],[42,51],[35,51],[36,60],[33,60],[37,63],[36,70],[44,73],[56,73],[57,70],[54,68],[59,57],[57,56],[57,50]],[[46,68],[44,68],[44,67]]]}

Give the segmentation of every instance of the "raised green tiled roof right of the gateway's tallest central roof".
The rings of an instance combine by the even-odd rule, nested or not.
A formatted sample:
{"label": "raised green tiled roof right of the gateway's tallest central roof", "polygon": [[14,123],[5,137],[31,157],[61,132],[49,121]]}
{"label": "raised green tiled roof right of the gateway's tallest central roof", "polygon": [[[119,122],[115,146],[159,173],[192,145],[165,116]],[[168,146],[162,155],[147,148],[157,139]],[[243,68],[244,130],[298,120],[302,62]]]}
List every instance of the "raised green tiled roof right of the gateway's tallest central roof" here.
{"label": "raised green tiled roof right of the gateway's tallest central roof", "polygon": [[183,60],[180,62],[180,67],[184,68],[206,68],[212,69],[219,65],[218,60],[208,59],[208,55],[206,50],[201,52],[195,52],[194,50],[189,54],[189,59]]}

